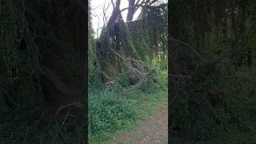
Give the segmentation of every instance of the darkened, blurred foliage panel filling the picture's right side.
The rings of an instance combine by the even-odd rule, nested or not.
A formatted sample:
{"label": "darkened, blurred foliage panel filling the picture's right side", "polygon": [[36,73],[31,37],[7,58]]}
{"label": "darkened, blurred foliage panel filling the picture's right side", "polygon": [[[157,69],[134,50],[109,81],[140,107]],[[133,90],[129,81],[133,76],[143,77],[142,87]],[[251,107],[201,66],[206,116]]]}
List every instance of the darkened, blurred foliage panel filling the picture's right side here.
{"label": "darkened, blurred foliage panel filling the picture's right side", "polygon": [[170,2],[173,136],[206,142],[233,137],[227,140],[233,143],[241,133],[255,133],[254,6]]}

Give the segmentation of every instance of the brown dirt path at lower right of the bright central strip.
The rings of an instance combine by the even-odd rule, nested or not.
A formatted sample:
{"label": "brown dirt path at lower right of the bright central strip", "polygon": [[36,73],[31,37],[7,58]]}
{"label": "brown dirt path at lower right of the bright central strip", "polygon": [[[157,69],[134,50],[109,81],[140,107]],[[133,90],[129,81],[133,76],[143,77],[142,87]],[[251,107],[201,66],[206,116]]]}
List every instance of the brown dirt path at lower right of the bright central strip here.
{"label": "brown dirt path at lower right of the bright central strip", "polygon": [[138,127],[107,143],[117,144],[166,144],[168,143],[168,103],[160,102],[158,109]]}

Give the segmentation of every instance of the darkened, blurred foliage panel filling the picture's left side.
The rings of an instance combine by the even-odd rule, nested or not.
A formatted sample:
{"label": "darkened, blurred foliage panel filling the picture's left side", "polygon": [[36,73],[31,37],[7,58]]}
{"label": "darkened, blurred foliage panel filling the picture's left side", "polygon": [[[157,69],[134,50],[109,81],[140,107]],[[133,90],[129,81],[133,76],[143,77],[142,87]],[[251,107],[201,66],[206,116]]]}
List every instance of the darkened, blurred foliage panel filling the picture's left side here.
{"label": "darkened, blurred foliage panel filling the picture's left side", "polygon": [[[74,102],[78,95],[70,97],[69,90],[84,79],[79,76],[79,70],[85,75],[83,63],[79,62],[81,55],[82,59],[86,57],[86,25],[83,18],[78,18],[78,14],[85,14],[82,14],[84,6],[79,7],[81,3],[76,2],[0,2],[2,143],[82,143],[86,138],[82,110],[78,110],[74,118],[65,118],[61,115],[65,110],[58,109],[66,102]],[[77,7],[74,9],[74,6]],[[69,17],[70,11],[77,15]],[[68,22],[75,22],[70,18],[79,19],[75,27],[80,30],[70,27]],[[78,31],[82,34],[76,35]],[[76,45],[81,45],[77,47],[84,51],[77,53],[78,50],[74,50]],[[79,80],[73,81],[75,78]],[[78,84],[78,89],[82,85],[85,82]],[[84,95],[82,92],[82,98]],[[61,112],[56,113],[58,110]]]}

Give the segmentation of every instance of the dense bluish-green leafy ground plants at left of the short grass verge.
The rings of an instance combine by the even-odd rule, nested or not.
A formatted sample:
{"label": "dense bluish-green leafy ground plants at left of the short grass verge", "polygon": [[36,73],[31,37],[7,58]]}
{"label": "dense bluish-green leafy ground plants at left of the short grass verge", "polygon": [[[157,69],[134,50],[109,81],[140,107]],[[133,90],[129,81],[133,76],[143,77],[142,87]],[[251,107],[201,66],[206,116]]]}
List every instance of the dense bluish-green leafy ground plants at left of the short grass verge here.
{"label": "dense bluish-green leafy ground plants at left of the short grass verge", "polygon": [[115,130],[137,118],[134,102],[116,91],[95,90],[89,94],[89,141],[106,140]]}

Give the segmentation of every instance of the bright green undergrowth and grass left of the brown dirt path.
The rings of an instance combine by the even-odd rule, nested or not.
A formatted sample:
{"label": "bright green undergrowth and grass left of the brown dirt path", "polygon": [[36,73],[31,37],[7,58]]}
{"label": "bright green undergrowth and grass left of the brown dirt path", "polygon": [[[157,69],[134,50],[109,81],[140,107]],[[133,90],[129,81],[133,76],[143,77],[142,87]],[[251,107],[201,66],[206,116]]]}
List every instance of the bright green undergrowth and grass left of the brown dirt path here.
{"label": "bright green undergrowth and grass left of the brown dirt path", "polygon": [[89,89],[89,142],[99,143],[114,139],[117,132],[127,131],[145,120],[167,101],[167,73],[156,77],[162,89],[122,91],[117,86]]}

